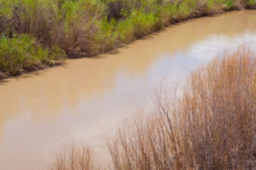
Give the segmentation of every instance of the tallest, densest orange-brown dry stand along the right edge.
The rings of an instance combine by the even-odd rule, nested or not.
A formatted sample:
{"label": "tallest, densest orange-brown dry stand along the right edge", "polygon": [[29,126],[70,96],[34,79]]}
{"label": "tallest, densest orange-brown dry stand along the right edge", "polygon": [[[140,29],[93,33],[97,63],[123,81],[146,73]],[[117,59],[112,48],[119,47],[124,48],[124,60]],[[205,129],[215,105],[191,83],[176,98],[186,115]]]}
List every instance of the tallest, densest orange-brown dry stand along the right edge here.
{"label": "tallest, densest orange-brown dry stand along the right edge", "polygon": [[252,168],[256,52],[245,45],[235,52],[225,51],[192,72],[183,91],[171,112],[180,124],[179,157],[194,169]]}

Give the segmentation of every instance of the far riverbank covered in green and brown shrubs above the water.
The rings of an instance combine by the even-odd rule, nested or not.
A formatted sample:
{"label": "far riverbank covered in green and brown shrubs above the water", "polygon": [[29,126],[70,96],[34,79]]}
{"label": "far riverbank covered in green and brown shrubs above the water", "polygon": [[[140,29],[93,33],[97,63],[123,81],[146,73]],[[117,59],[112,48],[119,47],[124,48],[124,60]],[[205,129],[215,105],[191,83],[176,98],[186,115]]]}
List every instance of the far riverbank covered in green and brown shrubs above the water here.
{"label": "far riverbank covered in green and brown shrubs above the water", "polygon": [[0,79],[103,54],[184,20],[255,6],[255,0],[0,0]]}

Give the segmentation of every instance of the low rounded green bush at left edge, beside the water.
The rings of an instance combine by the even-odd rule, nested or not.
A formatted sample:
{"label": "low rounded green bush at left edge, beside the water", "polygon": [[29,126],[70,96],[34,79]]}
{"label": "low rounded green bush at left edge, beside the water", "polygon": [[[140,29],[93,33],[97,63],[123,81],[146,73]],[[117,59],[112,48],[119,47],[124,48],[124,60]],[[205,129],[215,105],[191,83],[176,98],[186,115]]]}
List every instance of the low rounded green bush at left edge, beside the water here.
{"label": "low rounded green bush at left edge, beside the water", "polygon": [[53,60],[63,59],[64,54],[54,47],[49,51],[29,34],[14,34],[0,39],[0,71],[16,75],[30,70],[55,65]]}

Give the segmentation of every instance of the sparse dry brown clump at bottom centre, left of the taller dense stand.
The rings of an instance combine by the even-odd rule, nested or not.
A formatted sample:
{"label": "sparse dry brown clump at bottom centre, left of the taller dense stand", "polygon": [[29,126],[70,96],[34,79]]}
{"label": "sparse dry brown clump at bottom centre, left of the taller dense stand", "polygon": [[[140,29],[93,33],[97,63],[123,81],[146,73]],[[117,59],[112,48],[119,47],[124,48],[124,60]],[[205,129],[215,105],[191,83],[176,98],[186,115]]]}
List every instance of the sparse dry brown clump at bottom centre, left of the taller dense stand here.
{"label": "sparse dry brown clump at bottom centre, left of the taller dense stand", "polygon": [[132,121],[127,120],[108,144],[113,160],[111,169],[169,170],[175,163],[175,148],[168,132],[158,116],[140,113]]}

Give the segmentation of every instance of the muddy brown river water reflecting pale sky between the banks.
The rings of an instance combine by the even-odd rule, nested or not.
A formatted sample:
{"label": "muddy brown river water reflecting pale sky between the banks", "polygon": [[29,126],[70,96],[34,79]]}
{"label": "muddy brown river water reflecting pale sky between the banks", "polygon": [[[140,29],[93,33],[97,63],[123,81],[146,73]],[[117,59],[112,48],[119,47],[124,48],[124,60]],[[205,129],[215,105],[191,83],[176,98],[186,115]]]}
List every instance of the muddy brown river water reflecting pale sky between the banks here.
{"label": "muddy brown river water reflecting pale sky between the banks", "polygon": [[0,81],[0,170],[47,169],[64,140],[104,139],[122,117],[150,108],[153,85],[184,79],[225,48],[256,41],[256,11],[175,24],[114,54]]}

